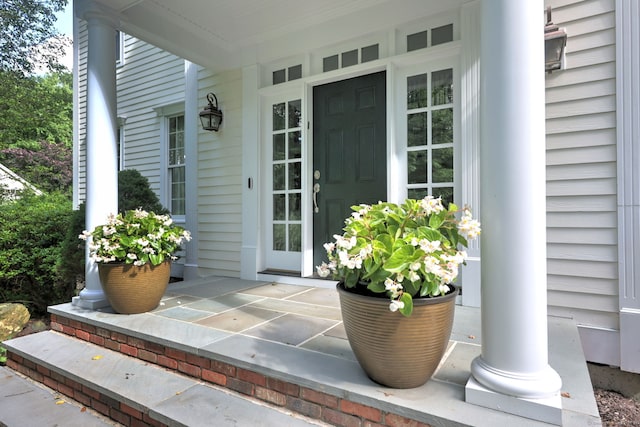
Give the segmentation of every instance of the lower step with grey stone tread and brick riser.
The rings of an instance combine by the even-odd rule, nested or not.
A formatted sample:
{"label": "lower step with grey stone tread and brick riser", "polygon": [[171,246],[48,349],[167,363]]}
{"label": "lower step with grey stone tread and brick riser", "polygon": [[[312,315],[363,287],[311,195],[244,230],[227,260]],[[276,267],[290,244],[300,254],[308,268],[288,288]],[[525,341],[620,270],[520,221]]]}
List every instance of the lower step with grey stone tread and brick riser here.
{"label": "lower step with grey stone tread and brick riser", "polygon": [[3,346],[8,367],[126,426],[326,425],[54,331]]}

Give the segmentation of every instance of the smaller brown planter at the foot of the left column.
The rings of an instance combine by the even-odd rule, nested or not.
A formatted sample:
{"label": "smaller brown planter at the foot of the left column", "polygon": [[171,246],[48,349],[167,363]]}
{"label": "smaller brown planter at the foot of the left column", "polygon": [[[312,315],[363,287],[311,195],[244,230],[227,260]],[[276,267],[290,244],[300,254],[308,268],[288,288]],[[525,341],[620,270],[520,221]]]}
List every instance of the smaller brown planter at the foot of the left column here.
{"label": "smaller brown planter at the foot of the left column", "polygon": [[171,262],[159,265],[98,264],[100,283],[116,313],[135,314],[160,304],[171,275]]}

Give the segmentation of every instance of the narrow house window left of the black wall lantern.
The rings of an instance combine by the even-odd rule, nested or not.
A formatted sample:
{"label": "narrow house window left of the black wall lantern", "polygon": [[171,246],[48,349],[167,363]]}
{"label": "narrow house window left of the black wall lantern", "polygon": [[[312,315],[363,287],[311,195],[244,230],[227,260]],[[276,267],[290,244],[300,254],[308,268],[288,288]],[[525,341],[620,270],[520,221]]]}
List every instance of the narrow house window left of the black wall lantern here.
{"label": "narrow house window left of the black wall lantern", "polygon": [[185,215],[186,177],[184,151],[184,115],[168,118],[169,203],[172,215]]}

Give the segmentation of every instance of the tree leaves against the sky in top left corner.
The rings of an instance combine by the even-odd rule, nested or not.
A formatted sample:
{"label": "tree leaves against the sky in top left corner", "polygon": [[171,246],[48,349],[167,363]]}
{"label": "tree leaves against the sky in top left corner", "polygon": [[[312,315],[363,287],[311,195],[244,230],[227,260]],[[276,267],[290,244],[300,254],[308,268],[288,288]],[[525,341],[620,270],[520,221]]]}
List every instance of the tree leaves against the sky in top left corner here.
{"label": "tree leaves against the sky in top left corner", "polygon": [[0,68],[21,75],[62,70],[69,39],[54,27],[68,0],[0,0]]}

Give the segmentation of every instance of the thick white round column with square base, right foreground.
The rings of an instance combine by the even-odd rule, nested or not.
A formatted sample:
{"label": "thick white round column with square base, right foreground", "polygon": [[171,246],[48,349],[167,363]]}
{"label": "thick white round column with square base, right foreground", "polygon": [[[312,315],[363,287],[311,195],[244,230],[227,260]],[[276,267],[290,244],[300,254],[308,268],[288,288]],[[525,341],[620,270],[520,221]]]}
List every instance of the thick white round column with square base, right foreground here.
{"label": "thick white round column with square base, right foreground", "polygon": [[548,364],[543,18],[543,0],[482,1],[482,353],[466,400],[561,424]]}

